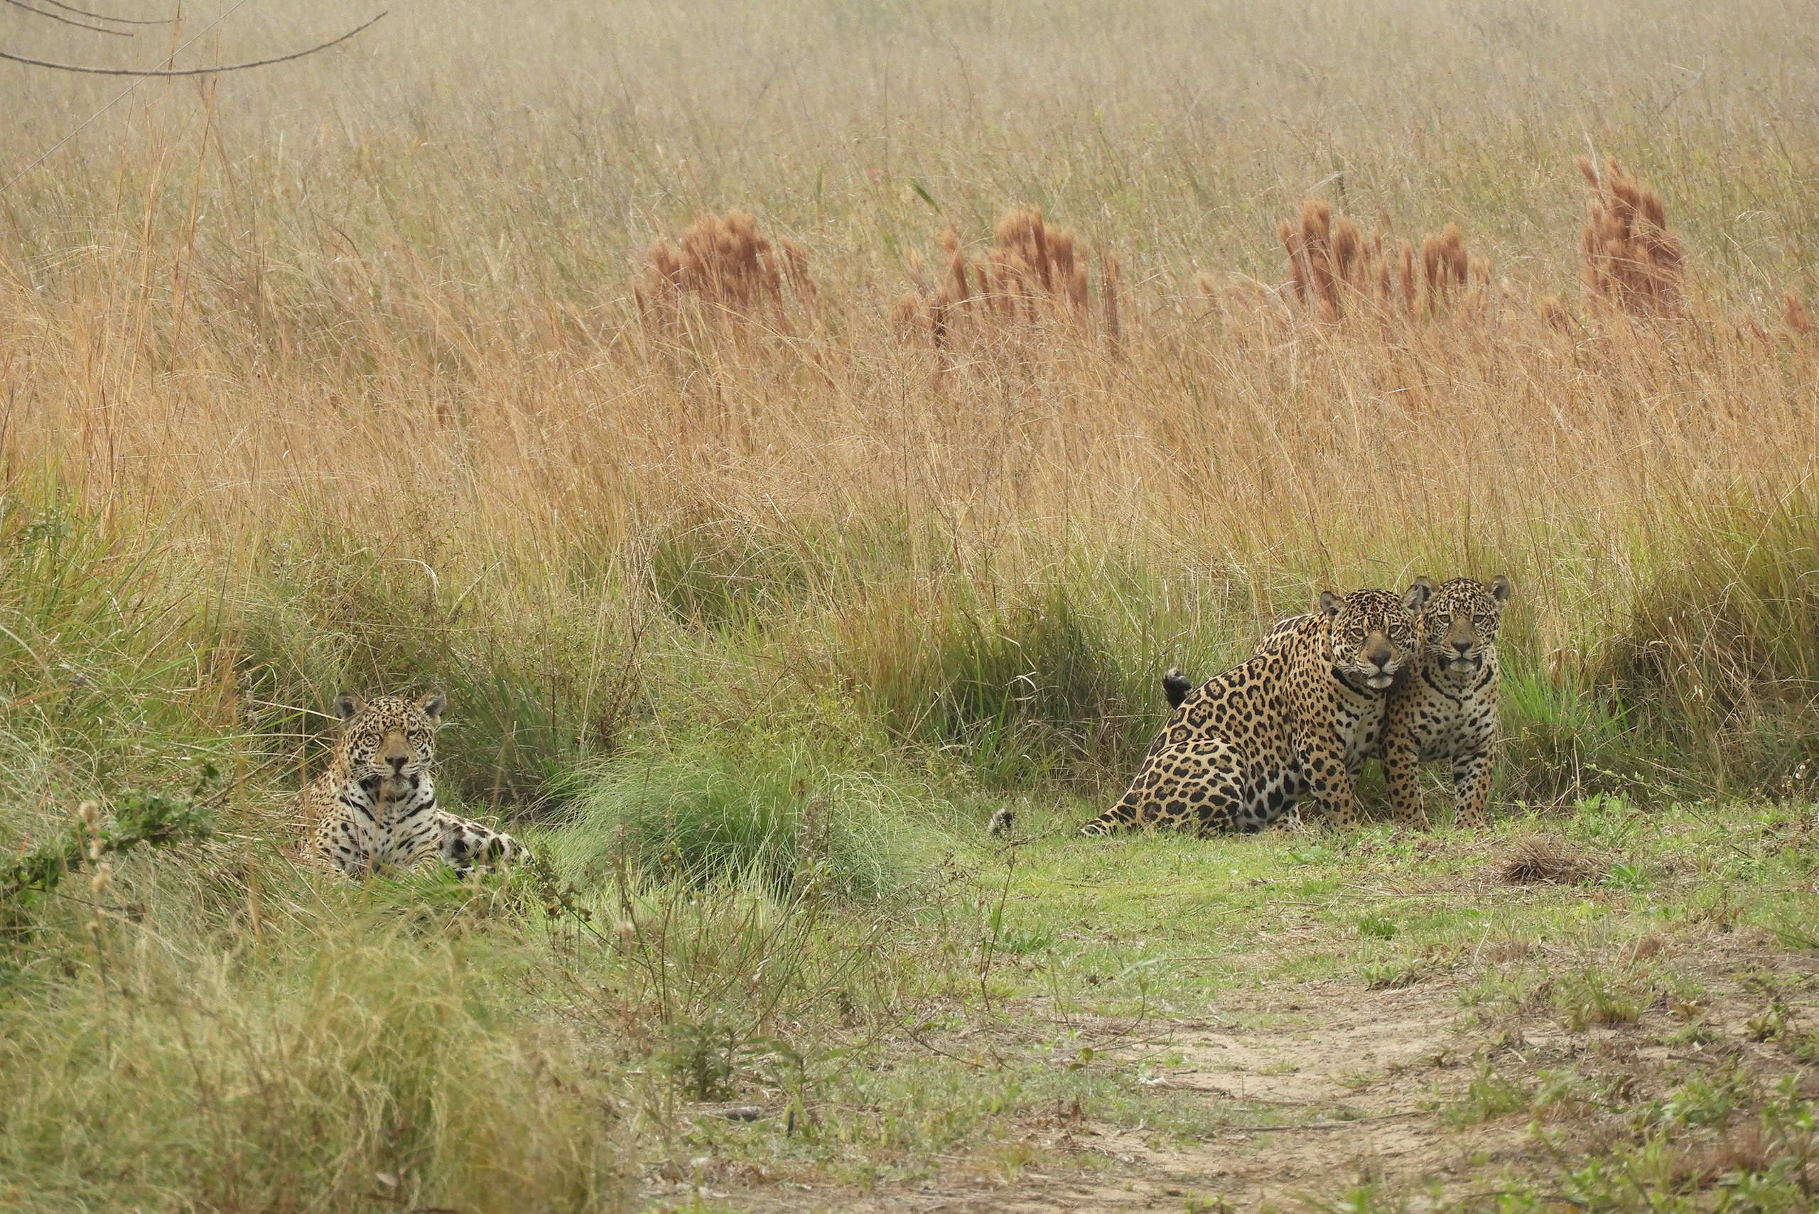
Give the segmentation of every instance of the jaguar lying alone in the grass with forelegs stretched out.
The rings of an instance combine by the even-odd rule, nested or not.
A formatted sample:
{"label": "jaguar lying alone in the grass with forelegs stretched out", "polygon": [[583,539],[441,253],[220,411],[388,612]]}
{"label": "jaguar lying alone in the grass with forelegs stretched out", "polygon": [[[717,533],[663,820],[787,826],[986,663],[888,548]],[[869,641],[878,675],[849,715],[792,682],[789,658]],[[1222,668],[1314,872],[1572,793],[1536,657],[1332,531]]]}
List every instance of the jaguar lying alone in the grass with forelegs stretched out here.
{"label": "jaguar lying alone in the grass with forelegs stretched out", "polygon": [[302,820],[315,823],[306,847],[311,860],[366,878],[435,858],[466,874],[475,865],[526,856],[509,834],[437,809],[429,767],[446,705],[440,692],[418,700],[335,698],[342,720],[335,758],[296,794]]}

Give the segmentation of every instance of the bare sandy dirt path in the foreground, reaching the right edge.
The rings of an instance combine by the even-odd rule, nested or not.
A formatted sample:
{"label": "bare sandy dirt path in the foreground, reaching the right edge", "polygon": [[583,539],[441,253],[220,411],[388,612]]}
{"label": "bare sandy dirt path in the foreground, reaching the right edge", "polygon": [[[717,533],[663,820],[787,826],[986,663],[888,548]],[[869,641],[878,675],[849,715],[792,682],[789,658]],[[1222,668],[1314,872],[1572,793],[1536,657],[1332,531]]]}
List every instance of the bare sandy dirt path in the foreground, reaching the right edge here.
{"label": "bare sandy dirt path in the foreground, reaching the right edge", "polygon": [[[1635,1023],[1568,1032],[1539,1007],[1532,1016],[1462,1016],[1464,980],[1457,976],[1432,976],[1401,990],[1310,983],[1224,1001],[1224,1020],[1177,1023],[1166,1041],[1151,1040],[1141,1056],[1110,1060],[1146,1087],[1213,1103],[1208,1119],[1215,1123],[1241,1123],[1199,1141],[1062,1110],[1026,1118],[997,1158],[955,1159],[948,1172],[917,1187],[746,1187],[731,1174],[704,1176],[700,1189],[678,1185],[675,1194],[686,1189],[722,1209],[866,1214],[1250,1214],[1306,1209],[1306,1198],[1332,1201],[1364,1183],[1457,1199],[1481,1190],[1482,1176],[1504,1165],[1523,1170],[1535,1150],[1526,1112],[1475,1125],[1446,1116],[1486,1065],[1512,1078],[1573,1069],[1588,1081],[1633,1083],[1639,1098],[1675,1060],[1788,1070],[1786,1056],[1754,1041],[1746,1029],[1761,1003],[1746,989],[1748,974],[1792,969],[1812,983],[1812,960],[1792,958],[1761,938],[1686,943],[1679,960],[1710,980],[1706,1014],[1717,1032],[1715,1041],[1690,1047],[1692,1054],[1661,1045],[1683,1023],[1664,1007],[1644,1009]],[[1581,1130],[1592,1134],[1595,1127],[1584,1121],[1566,1132]],[[664,1201],[662,1194],[649,1196]]]}

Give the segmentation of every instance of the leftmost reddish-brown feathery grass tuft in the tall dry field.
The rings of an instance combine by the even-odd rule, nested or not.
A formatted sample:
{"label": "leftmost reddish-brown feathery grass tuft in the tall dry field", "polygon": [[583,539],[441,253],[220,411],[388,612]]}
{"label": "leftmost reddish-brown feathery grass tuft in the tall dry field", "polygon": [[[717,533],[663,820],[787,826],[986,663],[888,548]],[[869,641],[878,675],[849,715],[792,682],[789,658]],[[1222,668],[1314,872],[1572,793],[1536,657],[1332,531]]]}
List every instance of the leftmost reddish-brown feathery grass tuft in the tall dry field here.
{"label": "leftmost reddish-brown feathery grass tuft in the tall dry field", "polygon": [[680,254],[662,238],[651,245],[651,264],[637,289],[640,313],[673,320],[680,300],[693,296],[737,318],[751,318],[769,305],[779,327],[788,327],[784,293],[802,300],[815,296],[808,251],[793,240],[771,242],[749,211],[698,214],[680,244]]}

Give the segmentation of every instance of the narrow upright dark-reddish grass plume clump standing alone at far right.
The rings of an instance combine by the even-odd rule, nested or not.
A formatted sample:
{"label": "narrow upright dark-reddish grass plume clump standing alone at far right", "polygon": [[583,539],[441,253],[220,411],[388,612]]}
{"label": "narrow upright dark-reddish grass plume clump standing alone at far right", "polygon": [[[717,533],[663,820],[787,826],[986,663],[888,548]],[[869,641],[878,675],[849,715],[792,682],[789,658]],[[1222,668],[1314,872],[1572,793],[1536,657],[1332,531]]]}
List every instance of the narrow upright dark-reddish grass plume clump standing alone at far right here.
{"label": "narrow upright dark-reddish grass plume clump standing alone at far right", "polygon": [[1590,213],[1579,233],[1586,293],[1632,316],[1677,313],[1684,254],[1668,231],[1666,205],[1615,158],[1603,182],[1584,156],[1579,173],[1592,185]]}

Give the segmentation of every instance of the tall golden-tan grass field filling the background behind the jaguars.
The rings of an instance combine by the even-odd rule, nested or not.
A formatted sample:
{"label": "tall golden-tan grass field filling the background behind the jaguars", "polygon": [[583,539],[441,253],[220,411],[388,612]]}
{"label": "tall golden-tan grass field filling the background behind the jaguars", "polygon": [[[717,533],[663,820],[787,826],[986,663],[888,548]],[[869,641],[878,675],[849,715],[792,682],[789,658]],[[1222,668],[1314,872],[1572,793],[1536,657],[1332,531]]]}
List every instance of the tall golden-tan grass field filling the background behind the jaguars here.
{"label": "tall golden-tan grass field filling the background behind the jaguars", "polygon": [[[1690,503],[1815,454],[1795,16],[406,7],[9,187],[0,458],[187,562],[264,712],[460,682],[497,803],[702,680],[1115,765],[1148,665],[1415,572],[1506,569],[1593,687]],[[106,98],[18,73],[13,164]],[[1672,309],[1575,285],[1588,140],[1672,207]],[[1068,672],[995,656],[1057,594]]]}

